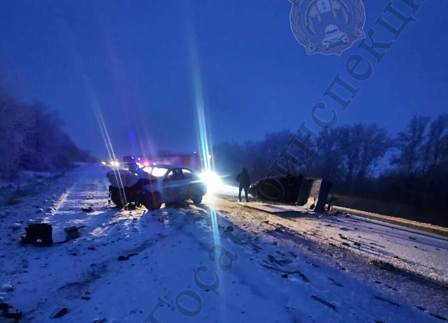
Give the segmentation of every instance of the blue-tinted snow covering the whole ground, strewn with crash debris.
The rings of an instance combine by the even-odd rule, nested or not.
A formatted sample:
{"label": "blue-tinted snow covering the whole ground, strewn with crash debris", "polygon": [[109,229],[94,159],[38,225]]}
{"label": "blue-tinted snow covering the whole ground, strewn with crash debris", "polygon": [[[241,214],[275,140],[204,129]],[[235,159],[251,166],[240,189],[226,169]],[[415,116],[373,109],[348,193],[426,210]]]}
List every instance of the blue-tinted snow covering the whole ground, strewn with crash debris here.
{"label": "blue-tinted snow covering the whole ground, strewn with crash debris", "polygon": [[[364,230],[354,217],[284,219],[211,197],[199,207],[120,211],[108,203],[105,172],[99,166],[79,168],[3,209],[0,287],[12,285],[2,297],[23,311],[21,322],[373,323],[448,317],[444,240],[414,233],[418,240],[408,239],[429,254],[442,250],[428,255],[432,271],[417,276],[383,270],[364,257],[369,251],[390,260],[385,250],[395,254],[400,247],[389,249],[392,241],[405,239],[396,228],[381,231],[385,237],[391,231],[383,250],[370,244],[383,243],[374,230]],[[95,212],[82,212],[87,206]],[[20,247],[22,228],[38,218],[53,225],[55,241],[65,239],[65,227],[86,227],[71,242]],[[335,231],[318,231],[326,225]],[[374,225],[382,227],[368,226]],[[337,233],[347,240],[337,240]],[[351,245],[356,237],[366,250],[331,246],[325,239],[334,235],[335,245]],[[412,257],[404,254],[399,257]],[[411,269],[421,270],[424,263],[416,263]],[[442,276],[442,282],[422,276]],[[62,308],[68,313],[52,319]]]}

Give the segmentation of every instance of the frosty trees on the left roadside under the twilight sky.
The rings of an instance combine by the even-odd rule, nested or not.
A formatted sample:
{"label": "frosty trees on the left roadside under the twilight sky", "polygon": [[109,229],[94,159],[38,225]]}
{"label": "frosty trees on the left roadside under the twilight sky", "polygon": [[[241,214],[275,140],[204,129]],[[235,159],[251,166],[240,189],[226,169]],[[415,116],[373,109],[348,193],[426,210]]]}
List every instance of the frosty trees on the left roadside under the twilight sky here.
{"label": "frosty trees on the left roadside under the twilight sky", "polygon": [[62,129],[63,122],[40,103],[21,103],[0,86],[0,178],[22,170],[51,171],[92,161]]}

